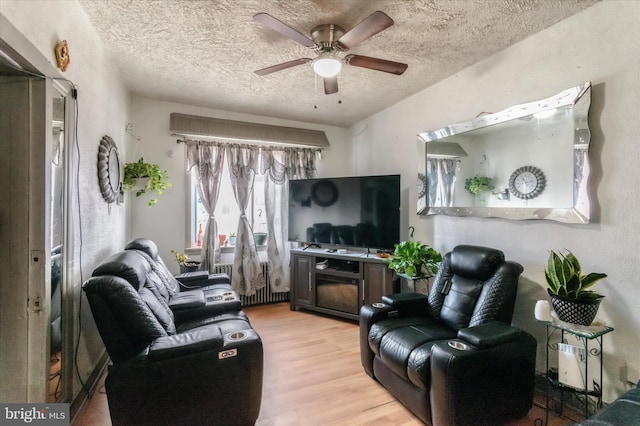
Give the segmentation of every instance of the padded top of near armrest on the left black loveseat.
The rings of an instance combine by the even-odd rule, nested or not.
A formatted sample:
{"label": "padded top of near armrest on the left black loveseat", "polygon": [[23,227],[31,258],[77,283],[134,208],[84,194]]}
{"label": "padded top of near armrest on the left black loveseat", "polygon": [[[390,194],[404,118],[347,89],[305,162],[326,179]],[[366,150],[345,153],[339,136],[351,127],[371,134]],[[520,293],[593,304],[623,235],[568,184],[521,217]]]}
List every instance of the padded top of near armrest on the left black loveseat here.
{"label": "padded top of near armrest on the left black loveseat", "polygon": [[162,361],[220,348],[223,345],[224,338],[220,327],[198,327],[185,333],[159,337],[149,347],[148,357],[150,361]]}

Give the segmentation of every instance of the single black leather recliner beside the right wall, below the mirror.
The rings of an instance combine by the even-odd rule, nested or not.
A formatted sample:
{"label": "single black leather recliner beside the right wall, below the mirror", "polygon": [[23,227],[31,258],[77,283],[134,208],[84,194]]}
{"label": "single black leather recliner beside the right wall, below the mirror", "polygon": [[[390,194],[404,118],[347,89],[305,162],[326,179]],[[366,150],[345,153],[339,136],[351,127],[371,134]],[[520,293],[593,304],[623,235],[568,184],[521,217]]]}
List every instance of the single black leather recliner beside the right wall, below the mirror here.
{"label": "single black leather recliner beside the right wall, below the mirror", "polygon": [[428,296],[360,311],[366,373],[433,425],[499,425],[533,403],[536,340],[510,325],[522,266],[479,246],[442,260]]}

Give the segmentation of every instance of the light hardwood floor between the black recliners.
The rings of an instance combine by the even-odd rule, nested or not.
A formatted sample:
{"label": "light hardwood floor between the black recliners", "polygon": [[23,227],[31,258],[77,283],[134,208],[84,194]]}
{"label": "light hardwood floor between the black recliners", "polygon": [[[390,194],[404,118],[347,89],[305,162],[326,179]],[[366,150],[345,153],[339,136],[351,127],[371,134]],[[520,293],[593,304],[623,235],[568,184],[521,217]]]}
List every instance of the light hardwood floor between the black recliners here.
{"label": "light hardwood floor between the black recliners", "polygon": [[[250,306],[244,311],[264,346],[258,426],[422,424],[364,373],[357,323],[292,312],[287,303]],[[104,377],[99,391],[73,421],[74,426],[111,424],[103,382]],[[543,425],[543,405],[544,397],[537,395],[527,417],[510,426]],[[549,415],[551,426],[572,423],[569,418]]]}

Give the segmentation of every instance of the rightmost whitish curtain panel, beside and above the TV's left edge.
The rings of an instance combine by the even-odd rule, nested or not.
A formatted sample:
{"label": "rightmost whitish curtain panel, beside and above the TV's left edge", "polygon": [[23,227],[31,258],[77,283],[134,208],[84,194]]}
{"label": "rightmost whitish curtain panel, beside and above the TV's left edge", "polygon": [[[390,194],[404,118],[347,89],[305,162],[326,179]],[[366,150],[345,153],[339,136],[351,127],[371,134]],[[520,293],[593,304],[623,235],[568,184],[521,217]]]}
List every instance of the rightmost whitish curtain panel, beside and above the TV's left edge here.
{"label": "rightmost whitish curtain panel, beside and above the TV's left edge", "polygon": [[289,193],[288,181],[315,174],[318,150],[305,148],[265,148],[262,155],[265,174],[264,198],[267,213],[267,262],[271,292],[289,291]]}

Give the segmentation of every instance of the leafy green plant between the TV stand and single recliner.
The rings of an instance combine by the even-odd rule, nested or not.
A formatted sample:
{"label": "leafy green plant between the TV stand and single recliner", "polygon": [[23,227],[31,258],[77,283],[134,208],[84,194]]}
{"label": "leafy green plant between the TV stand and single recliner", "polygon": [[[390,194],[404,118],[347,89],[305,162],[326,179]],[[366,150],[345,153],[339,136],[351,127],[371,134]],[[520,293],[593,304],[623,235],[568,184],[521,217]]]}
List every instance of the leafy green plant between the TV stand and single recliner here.
{"label": "leafy green plant between the TV stand and single recliner", "polygon": [[438,272],[442,255],[420,241],[401,241],[393,256],[385,259],[390,269],[409,279],[430,277]]}

